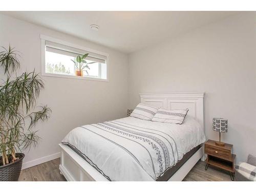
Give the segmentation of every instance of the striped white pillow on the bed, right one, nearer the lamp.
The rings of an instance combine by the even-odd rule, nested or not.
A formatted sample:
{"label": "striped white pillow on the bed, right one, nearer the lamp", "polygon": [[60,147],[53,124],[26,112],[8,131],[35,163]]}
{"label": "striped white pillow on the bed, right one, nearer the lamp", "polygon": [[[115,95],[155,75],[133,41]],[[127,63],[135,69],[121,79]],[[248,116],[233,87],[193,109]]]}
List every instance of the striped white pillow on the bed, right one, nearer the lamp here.
{"label": "striped white pillow on the bed, right one, nearer the lamp", "polygon": [[188,109],[186,110],[166,110],[160,108],[156,115],[153,117],[152,121],[158,121],[162,123],[175,123],[182,124]]}

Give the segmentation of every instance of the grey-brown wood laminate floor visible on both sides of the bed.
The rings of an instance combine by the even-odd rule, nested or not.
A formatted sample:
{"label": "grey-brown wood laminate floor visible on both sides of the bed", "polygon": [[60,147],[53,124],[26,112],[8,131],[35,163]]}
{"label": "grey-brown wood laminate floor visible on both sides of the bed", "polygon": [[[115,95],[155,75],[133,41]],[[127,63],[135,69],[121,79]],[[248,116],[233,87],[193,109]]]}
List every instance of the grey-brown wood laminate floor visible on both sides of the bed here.
{"label": "grey-brown wood laminate floor visible on both sides of the bed", "polygon": [[[60,159],[55,159],[40,165],[22,170],[19,181],[66,181],[59,173]],[[198,161],[183,181],[230,181],[228,172],[209,165],[204,170],[205,162]]]}

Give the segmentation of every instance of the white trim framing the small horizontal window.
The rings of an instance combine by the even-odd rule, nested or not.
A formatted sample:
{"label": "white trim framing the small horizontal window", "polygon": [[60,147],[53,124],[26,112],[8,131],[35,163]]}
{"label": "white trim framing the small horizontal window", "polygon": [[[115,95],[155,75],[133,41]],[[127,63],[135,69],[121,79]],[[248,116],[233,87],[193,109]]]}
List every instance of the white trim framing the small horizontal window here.
{"label": "white trim framing the small horizontal window", "polygon": [[[64,40],[57,39],[57,38],[53,38],[53,37],[49,37],[49,36],[42,35],[42,34],[40,34],[40,39],[41,39],[41,76],[109,82],[109,54],[108,53],[101,52],[101,51],[94,50],[94,49],[87,48],[87,47],[83,47],[83,46],[79,46],[79,45],[75,45],[75,44],[72,44],[71,42],[64,41]],[[92,53],[96,53],[96,54],[105,56],[106,57],[106,60],[105,60],[105,62],[106,62],[106,79],[94,78],[94,77],[77,77],[75,75],[46,73],[45,72],[46,40],[51,41],[51,42],[55,42],[57,44],[61,44],[61,45],[64,45],[64,46],[69,46],[69,47],[73,47],[73,48],[76,48],[76,49],[84,50],[85,52],[88,51],[88,52],[92,52]]]}

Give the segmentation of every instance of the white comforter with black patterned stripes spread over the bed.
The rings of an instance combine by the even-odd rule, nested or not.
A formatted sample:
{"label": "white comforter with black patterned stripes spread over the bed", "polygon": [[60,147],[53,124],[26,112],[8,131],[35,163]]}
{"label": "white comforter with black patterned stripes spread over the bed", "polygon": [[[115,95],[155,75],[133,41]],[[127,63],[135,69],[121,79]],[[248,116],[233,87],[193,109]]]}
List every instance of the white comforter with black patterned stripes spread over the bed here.
{"label": "white comforter with black patterned stripes spread over the bed", "polygon": [[153,181],[204,141],[202,127],[187,116],[182,125],[134,117],[83,125],[62,143],[111,181]]}

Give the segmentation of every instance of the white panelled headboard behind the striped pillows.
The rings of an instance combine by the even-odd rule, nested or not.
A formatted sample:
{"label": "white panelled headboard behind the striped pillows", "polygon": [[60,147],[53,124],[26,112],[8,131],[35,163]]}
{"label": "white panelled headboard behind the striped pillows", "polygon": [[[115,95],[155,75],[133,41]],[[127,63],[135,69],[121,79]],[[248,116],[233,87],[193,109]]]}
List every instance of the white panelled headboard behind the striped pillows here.
{"label": "white panelled headboard behind the striped pillows", "polygon": [[193,116],[204,127],[204,92],[182,93],[140,93],[141,103],[164,109],[189,109]]}

